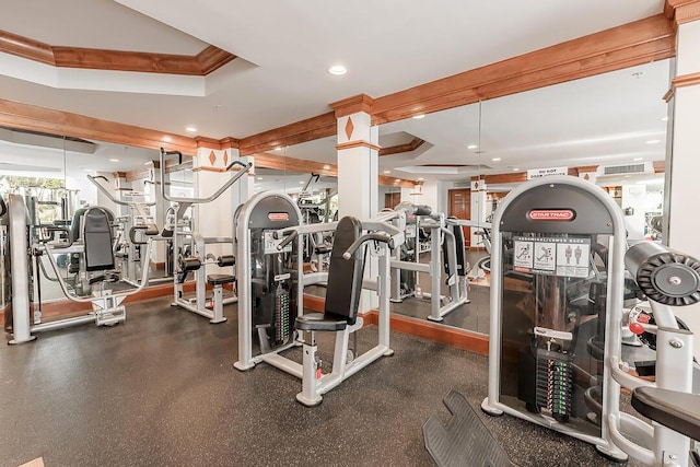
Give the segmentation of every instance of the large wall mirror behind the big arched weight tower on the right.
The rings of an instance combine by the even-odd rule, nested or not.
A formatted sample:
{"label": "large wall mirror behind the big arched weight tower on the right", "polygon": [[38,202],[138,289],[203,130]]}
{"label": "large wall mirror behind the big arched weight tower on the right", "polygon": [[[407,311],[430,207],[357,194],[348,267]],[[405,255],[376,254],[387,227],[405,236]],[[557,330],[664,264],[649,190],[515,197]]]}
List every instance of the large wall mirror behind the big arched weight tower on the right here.
{"label": "large wall mirror behind the big arched weight tower on the right", "polygon": [[[405,131],[424,141],[411,153],[381,157],[382,170],[423,178],[418,202],[475,225],[465,232],[471,302],[443,325],[488,334],[488,248],[480,233],[488,233],[500,200],[544,170],[602,186],[623,210],[630,238],[660,238],[669,72],[663,60],[381,127],[385,136]],[[425,283],[423,275],[418,282]],[[425,319],[430,306],[415,291],[393,311]]]}

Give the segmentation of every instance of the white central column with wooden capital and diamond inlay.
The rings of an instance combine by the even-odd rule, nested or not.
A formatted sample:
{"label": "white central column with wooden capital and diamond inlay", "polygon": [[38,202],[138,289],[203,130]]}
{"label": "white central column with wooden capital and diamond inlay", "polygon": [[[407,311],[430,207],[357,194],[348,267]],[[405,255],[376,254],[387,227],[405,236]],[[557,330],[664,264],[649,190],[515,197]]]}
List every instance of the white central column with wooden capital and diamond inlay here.
{"label": "white central column with wooden capital and diamond inlay", "polygon": [[[338,120],[338,219],[353,215],[360,220],[374,218],[378,200],[380,130],[372,126],[374,100],[365,94],[330,104]],[[376,258],[365,264],[364,277],[378,277]],[[378,305],[376,293],[363,291],[360,312]]]}

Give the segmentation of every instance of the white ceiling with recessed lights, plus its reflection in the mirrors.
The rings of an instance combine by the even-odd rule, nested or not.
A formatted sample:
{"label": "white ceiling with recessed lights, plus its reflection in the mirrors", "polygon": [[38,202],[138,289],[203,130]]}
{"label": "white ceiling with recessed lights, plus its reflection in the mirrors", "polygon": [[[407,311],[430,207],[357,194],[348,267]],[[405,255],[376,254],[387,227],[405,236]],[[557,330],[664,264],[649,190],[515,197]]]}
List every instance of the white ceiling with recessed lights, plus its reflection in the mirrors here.
{"label": "white ceiling with recessed lights, plus its reflection in the mirrors", "polygon": [[[0,30],[51,45],[168,54],[213,44],[240,58],[207,77],[199,97],[56,89],[0,75],[0,98],[179,135],[190,136],[185,127],[194,125],[202,136],[243,138],[329,112],[328,103],[351,95],[383,96],[662,10],[663,0],[23,0],[2,9]],[[326,72],[337,62],[346,75]],[[663,160],[668,69],[650,63],[384,125],[384,141],[406,131],[428,143],[382,157],[382,170],[416,178],[398,167],[459,163],[493,173]],[[479,142],[482,153],[466,149]],[[332,147],[328,139],[284,153],[332,162]]]}

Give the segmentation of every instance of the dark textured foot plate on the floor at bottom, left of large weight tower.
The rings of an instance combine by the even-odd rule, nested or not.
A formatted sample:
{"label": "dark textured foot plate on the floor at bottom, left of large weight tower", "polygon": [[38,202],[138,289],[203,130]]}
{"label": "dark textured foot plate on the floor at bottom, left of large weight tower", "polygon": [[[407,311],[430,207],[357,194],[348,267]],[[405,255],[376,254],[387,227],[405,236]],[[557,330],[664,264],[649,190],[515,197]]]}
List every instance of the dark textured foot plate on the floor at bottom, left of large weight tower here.
{"label": "dark textured foot plate on the floor at bottom, left of large weight tower", "polygon": [[456,390],[443,399],[453,415],[443,425],[438,413],[423,424],[425,448],[440,467],[511,467],[514,466],[469,402]]}

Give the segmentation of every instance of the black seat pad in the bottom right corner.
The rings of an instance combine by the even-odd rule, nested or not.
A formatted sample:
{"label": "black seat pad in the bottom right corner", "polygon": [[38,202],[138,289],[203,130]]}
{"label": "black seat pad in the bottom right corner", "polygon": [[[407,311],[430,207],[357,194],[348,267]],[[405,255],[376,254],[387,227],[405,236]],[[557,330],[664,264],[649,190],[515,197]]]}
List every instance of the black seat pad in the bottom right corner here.
{"label": "black seat pad in the bottom right corner", "polygon": [[642,386],[632,392],[632,407],[680,434],[700,440],[700,395]]}

